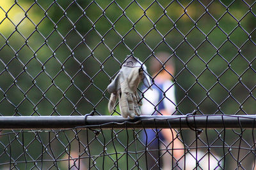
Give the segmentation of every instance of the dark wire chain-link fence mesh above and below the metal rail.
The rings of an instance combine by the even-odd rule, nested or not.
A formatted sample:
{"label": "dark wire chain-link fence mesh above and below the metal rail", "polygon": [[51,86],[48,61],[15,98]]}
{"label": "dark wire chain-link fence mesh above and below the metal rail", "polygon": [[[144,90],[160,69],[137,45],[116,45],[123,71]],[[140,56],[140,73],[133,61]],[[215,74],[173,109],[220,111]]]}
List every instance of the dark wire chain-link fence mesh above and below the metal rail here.
{"label": "dark wire chain-link fence mesh above and below the metal rail", "polygon": [[[177,116],[253,115],[255,8],[249,0],[1,1],[0,114],[120,115],[118,106],[108,113],[107,86],[133,55],[161,89],[152,103],[149,90],[138,88],[154,109],[149,115],[164,115],[159,109],[164,101]],[[163,52],[165,60],[159,58]],[[152,59],[161,64],[155,73]],[[169,60],[175,70],[168,69]],[[163,72],[172,79],[166,90],[157,85]],[[2,130],[0,169],[165,169],[166,159],[168,169],[255,169],[252,120],[250,129],[240,123],[238,129],[225,124],[210,129],[206,121],[204,131],[152,124],[154,138],[145,127],[114,125]],[[164,131],[170,141],[160,137]],[[157,148],[150,148],[152,143]]]}

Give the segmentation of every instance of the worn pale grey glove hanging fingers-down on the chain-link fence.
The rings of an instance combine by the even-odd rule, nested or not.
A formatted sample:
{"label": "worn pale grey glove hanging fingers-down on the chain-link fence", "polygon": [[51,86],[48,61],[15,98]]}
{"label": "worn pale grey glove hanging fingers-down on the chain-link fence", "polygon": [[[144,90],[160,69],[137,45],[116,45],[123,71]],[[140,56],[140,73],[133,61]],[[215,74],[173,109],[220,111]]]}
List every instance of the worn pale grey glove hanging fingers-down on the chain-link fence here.
{"label": "worn pale grey glove hanging fingers-down on the chain-link fence", "polygon": [[137,88],[141,80],[146,87],[150,87],[151,81],[147,67],[135,57],[127,57],[115,79],[108,85],[108,92],[111,93],[108,103],[110,113],[113,112],[118,98],[119,108],[124,118],[140,116],[141,102],[139,103],[140,97]]}

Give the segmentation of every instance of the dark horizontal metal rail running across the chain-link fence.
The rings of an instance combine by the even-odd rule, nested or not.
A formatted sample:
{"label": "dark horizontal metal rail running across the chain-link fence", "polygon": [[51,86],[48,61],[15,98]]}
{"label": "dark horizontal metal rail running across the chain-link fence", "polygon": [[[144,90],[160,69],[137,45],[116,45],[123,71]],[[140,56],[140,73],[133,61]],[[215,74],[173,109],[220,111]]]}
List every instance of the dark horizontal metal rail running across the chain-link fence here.
{"label": "dark horizontal metal rail running across the chain-link fence", "polygon": [[0,117],[0,129],[240,129],[255,128],[255,115],[173,115],[141,116],[134,119],[121,116],[38,116]]}

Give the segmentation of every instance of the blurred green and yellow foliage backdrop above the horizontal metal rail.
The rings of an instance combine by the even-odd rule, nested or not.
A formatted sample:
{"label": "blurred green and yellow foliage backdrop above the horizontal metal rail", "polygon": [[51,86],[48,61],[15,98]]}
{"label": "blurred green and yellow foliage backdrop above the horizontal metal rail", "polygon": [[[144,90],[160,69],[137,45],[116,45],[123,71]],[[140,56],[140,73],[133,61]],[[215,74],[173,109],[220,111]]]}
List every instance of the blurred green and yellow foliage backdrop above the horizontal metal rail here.
{"label": "blurred green and yellow foliage backdrop above the horizontal metal rail", "polygon": [[1,1],[0,113],[108,115],[106,87],[125,57],[148,66],[164,51],[180,114],[255,114],[256,11],[246,2]]}

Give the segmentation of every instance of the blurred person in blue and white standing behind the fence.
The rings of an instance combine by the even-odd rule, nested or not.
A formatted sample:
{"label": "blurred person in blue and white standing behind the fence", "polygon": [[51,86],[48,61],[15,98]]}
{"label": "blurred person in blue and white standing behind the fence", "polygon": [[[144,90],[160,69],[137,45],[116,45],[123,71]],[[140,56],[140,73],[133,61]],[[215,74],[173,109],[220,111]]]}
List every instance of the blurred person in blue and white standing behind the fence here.
{"label": "blurred person in blue and white standing behind the fence", "polygon": [[[152,90],[144,88],[141,113],[142,115],[173,115],[176,112],[175,86],[173,76],[175,73],[175,65],[173,57],[169,53],[156,53],[157,59],[152,56],[150,60],[150,71],[154,85]],[[147,166],[148,169],[159,169],[159,152],[158,139],[156,138],[156,130],[145,129],[143,133],[143,141],[147,140]],[[177,138],[177,132],[174,129],[161,129],[158,132],[160,149],[163,152],[161,158],[161,167],[172,169],[172,160],[179,160],[184,155],[184,145]],[[170,150],[173,148],[173,151]],[[152,150],[152,151],[151,151]],[[166,152],[168,150],[168,152]],[[171,155],[173,153],[173,155]],[[172,159],[172,156],[175,159]],[[174,164],[175,166],[175,164]]]}

